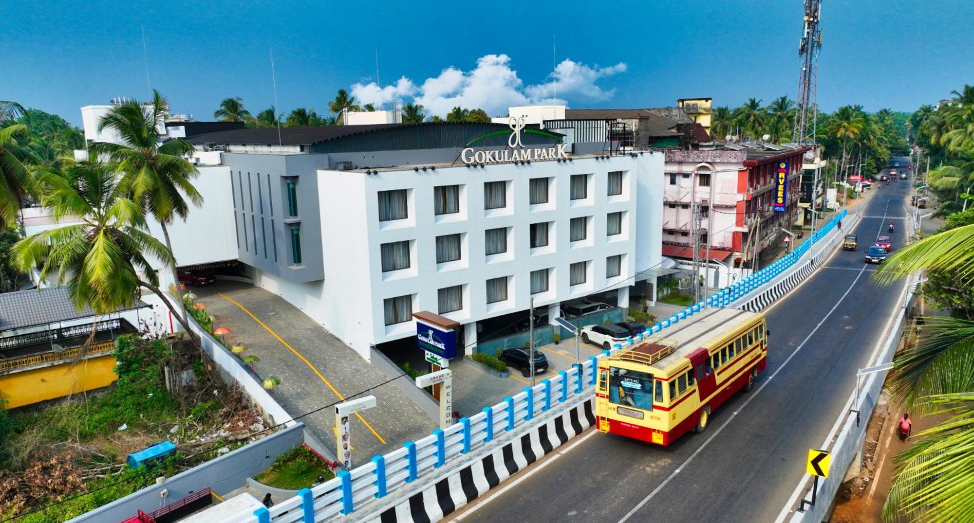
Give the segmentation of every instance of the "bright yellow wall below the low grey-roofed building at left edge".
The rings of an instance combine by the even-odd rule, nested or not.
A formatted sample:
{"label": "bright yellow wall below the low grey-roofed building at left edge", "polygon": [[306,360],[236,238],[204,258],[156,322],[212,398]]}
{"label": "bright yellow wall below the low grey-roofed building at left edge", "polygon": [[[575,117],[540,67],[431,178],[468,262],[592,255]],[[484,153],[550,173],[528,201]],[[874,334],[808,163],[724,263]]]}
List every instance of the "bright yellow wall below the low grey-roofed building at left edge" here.
{"label": "bright yellow wall below the low grey-roofed building at left edge", "polygon": [[111,385],[118,376],[113,370],[115,357],[98,356],[70,363],[33,368],[0,376],[0,399],[3,408],[54,400],[72,393],[91,391]]}

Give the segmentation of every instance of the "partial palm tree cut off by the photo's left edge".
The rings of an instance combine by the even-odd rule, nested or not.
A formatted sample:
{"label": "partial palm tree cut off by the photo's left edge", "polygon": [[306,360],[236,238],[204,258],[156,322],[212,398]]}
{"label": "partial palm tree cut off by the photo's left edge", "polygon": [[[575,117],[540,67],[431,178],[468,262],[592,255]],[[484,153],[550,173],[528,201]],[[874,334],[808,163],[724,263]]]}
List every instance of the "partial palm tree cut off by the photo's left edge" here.
{"label": "partial palm tree cut off by the photo's left edge", "polygon": [[23,200],[37,195],[37,183],[27,167],[37,160],[26,147],[28,139],[23,123],[0,128],[0,230],[12,227]]}

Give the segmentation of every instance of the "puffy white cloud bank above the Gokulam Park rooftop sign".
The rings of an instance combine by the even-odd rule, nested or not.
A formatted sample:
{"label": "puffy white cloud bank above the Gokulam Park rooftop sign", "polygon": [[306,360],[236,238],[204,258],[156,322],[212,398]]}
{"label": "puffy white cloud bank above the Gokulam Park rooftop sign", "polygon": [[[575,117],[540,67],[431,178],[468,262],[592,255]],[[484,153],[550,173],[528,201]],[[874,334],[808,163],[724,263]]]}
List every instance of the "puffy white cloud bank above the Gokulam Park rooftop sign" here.
{"label": "puffy white cloud bank above the Gokulam Park rooftop sign", "polygon": [[509,56],[487,54],[478,58],[476,67],[470,71],[450,66],[422,83],[402,77],[394,86],[381,88],[374,82],[356,84],[352,86],[352,95],[361,104],[388,104],[395,99],[412,101],[422,104],[429,115],[445,116],[456,106],[481,108],[489,115],[506,115],[509,106],[551,103],[555,82],[558,94],[555,103],[564,104],[567,99],[607,100],[616,89],[604,89],[596,82],[625,70],[626,65],[621,62],[599,67],[566,59],[547,75],[545,83],[524,87],[517,71],[511,68]]}

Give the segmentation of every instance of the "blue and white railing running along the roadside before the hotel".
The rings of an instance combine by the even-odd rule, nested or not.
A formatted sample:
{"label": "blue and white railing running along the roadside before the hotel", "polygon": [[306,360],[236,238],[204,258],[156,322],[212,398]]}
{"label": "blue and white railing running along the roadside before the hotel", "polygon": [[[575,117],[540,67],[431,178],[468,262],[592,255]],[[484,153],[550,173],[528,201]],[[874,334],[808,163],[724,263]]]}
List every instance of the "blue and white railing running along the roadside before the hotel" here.
{"label": "blue and white railing running along the roadside before the hotel", "polygon": [[440,471],[472,450],[495,444],[499,436],[517,430],[530,423],[535,416],[563,403],[588,398],[588,389],[595,386],[595,370],[598,358],[609,356],[618,350],[641,343],[643,339],[675,325],[707,307],[724,307],[747,296],[773,280],[796,261],[800,260],[816,242],[824,238],[846,212],[843,210],[832,221],[816,230],[793,252],[767,267],[737,281],[730,287],[707,299],[694,303],[682,311],[664,318],[636,336],[616,343],[611,351],[602,351],[581,363],[562,370],[551,378],[541,380],[535,387],[525,387],[523,392],[493,406],[485,406],[473,416],[461,418],[448,429],[434,429],[430,436],[417,441],[406,441],[402,447],[385,455],[377,455],[371,461],[352,471],[339,471],[335,478],[311,489],[301,489],[298,495],[271,508],[261,507],[252,514],[242,514],[241,521],[257,523],[313,523],[326,521],[339,514],[350,514],[372,500],[394,494],[423,478],[426,474]]}

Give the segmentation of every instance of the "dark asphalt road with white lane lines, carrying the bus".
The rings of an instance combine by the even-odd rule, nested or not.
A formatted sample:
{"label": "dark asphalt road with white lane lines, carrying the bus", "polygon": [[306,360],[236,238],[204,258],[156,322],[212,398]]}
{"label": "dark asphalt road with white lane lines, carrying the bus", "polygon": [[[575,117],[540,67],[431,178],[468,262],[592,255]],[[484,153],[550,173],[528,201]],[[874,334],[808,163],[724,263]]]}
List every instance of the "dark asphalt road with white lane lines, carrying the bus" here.
{"label": "dark asphalt road with white lane lines, carrying the bus", "polygon": [[[909,165],[895,158],[899,169]],[[516,521],[771,522],[829,435],[897,300],[870,278],[865,247],[889,222],[905,238],[913,176],[860,205],[858,252],[838,252],[768,311],[768,370],[750,394],[717,409],[702,435],[669,447],[589,431],[508,480],[457,518]]]}

